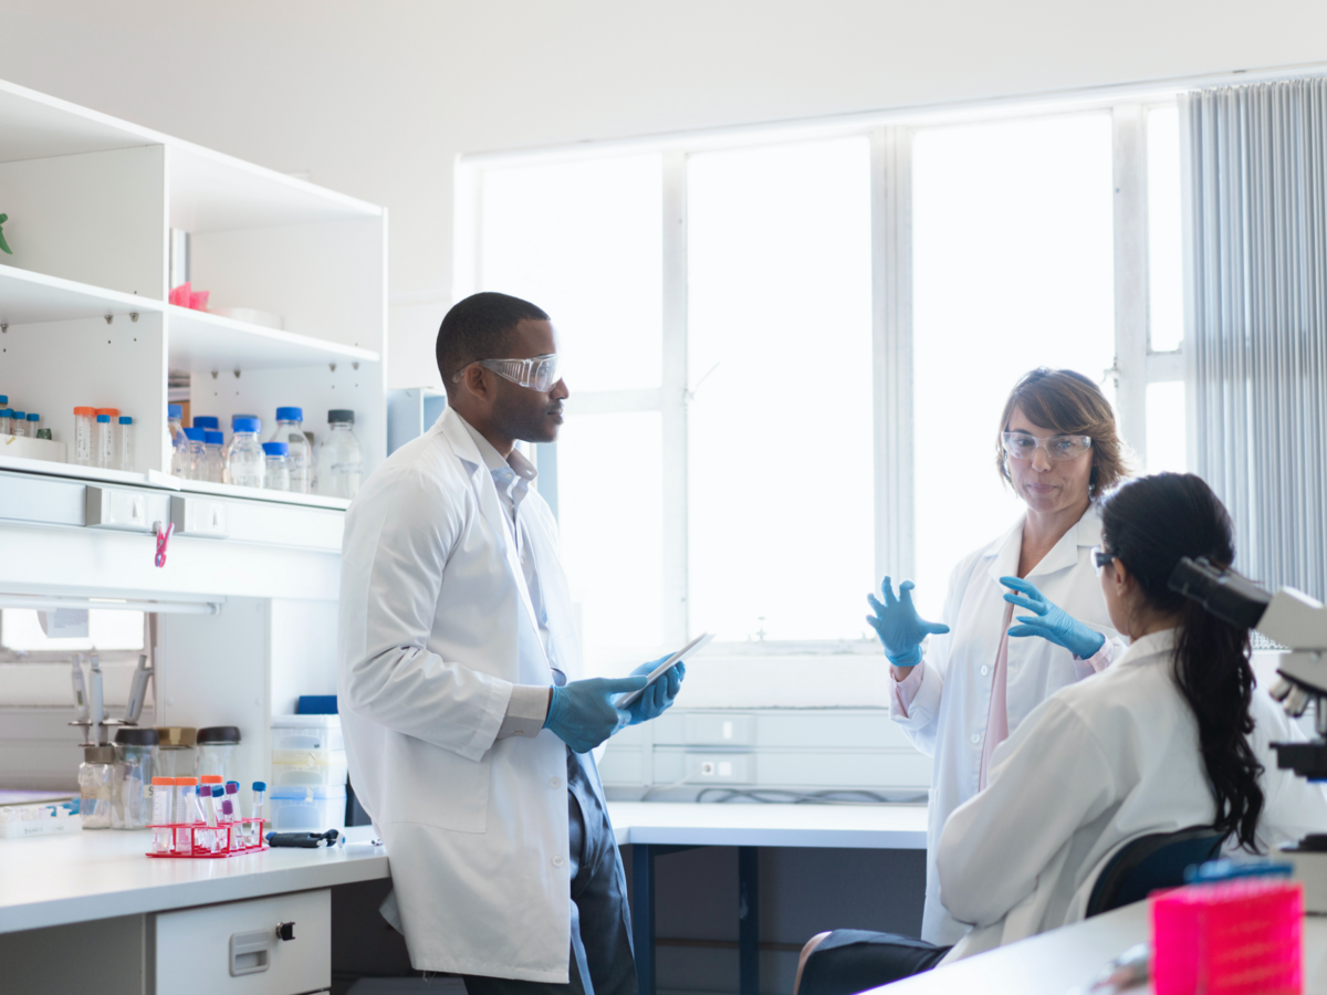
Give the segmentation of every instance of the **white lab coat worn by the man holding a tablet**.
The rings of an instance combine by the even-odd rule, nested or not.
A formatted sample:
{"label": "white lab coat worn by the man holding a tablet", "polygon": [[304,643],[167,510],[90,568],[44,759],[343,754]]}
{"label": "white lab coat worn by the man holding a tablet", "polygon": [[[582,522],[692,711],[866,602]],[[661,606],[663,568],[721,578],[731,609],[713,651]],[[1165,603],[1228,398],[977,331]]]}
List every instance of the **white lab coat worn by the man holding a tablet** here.
{"label": "white lab coat worn by the man holding a tablet", "polygon": [[459,415],[447,409],[374,471],[346,513],[337,690],[350,779],[391,860],[411,963],[565,983],[567,748],[548,730],[496,735],[512,685],[552,685],[548,654],[575,681],[580,649],[552,513],[535,492],[518,513],[547,654],[498,490]]}

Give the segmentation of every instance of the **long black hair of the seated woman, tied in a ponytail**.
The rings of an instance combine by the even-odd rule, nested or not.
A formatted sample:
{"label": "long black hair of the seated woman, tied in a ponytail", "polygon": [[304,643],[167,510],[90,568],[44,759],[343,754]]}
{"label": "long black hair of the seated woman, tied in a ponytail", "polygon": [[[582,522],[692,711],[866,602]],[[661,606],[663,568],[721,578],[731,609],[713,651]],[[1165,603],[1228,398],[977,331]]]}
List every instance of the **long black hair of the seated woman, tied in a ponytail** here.
{"label": "long black hair of the seated woman, tied in a ponytail", "polygon": [[1262,813],[1262,764],[1249,746],[1253,667],[1249,630],[1209,616],[1169,589],[1182,556],[1229,566],[1233,529],[1225,507],[1193,474],[1157,474],[1125,484],[1101,505],[1101,541],[1143,589],[1156,612],[1180,618],[1174,682],[1198,722],[1198,744],[1217,804],[1213,827],[1255,850]]}

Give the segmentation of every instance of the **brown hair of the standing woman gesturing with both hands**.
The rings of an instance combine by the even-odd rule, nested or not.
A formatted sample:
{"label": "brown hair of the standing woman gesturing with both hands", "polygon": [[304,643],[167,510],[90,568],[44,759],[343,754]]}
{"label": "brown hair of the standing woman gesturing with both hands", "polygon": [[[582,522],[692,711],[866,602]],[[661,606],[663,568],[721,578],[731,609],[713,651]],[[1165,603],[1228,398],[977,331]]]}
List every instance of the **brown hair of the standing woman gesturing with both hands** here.
{"label": "brown hair of the standing woman gesturing with both hands", "polygon": [[1005,443],[1009,419],[1015,407],[1034,425],[1054,429],[1062,435],[1092,436],[1092,476],[1088,480],[1092,500],[1128,476],[1124,443],[1115,430],[1115,413],[1105,394],[1091,379],[1074,370],[1048,370],[1039,366],[1019,377],[1009,393],[1005,413],[995,434],[995,468],[1005,483],[1011,483],[1005,463]]}

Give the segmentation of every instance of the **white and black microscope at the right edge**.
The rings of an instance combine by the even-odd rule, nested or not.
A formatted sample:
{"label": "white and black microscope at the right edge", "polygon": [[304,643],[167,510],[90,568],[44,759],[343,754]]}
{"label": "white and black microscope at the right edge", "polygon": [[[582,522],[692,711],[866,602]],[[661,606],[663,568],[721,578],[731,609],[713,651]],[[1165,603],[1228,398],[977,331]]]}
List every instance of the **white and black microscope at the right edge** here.
{"label": "white and black microscope at the right edge", "polygon": [[[1257,629],[1289,647],[1277,663],[1281,681],[1270,694],[1299,718],[1314,704],[1316,736],[1307,743],[1273,743],[1277,764],[1311,781],[1327,781],[1327,606],[1294,588],[1275,594],[1206,559],[1184,557],[1170,574],[1170,590],[1201,604],[1231,625]],[[1327,913],[1327,825],[1298,842],[1273,848],[1304,884],[1304,909]]]}

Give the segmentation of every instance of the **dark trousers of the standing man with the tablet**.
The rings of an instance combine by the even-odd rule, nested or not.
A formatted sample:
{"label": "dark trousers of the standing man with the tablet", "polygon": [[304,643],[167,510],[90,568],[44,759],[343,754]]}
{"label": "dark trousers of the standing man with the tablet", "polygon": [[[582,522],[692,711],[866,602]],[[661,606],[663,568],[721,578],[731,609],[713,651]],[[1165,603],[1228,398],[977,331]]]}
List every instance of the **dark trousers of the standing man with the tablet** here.
{"label": "dark trousers of the standing man with the tablet", "polygon": [[592,775],[594,760],[567,751],[567,828],[572,878],[568,983],[466,975],[468,995],[636,995],[632,913],[613,824]]}

